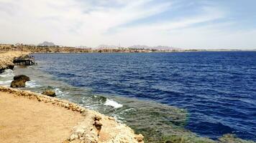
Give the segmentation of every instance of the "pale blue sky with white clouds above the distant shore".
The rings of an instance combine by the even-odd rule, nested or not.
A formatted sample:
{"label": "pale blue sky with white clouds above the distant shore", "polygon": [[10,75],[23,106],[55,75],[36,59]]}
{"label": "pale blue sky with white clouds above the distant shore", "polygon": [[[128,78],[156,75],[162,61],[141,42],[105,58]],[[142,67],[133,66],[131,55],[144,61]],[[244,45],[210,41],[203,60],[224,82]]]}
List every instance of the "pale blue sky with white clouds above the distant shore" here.
{"label": "pale blue sky with white clouds above the distant shore", "polygon": [[0,43],[256,49],[255,0],[0,0]]}

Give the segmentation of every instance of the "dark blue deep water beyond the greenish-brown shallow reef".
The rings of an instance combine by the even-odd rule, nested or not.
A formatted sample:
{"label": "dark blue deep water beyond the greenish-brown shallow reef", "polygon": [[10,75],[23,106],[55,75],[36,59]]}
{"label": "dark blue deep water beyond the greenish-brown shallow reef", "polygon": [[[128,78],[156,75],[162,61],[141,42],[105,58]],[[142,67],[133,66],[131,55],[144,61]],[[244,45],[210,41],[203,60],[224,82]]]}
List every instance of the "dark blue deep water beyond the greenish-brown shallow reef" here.
{"label": "dark blue deep water beyond the greenish-brown shallow reef", "polygon": [[204,137],[256,140],[256,52],[35,54],[40,69],[95,94],[188,110]]}

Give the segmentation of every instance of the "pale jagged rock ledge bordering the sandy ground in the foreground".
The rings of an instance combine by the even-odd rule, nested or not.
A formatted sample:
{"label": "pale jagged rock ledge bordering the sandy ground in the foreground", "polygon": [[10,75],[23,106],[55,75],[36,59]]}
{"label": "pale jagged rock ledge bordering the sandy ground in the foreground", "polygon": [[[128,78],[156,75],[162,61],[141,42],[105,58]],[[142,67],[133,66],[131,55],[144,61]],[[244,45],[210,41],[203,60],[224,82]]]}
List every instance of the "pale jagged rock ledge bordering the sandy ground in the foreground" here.
{"label": "pale jagged rock ledge bordering the sandy ground in the foreground", "polygon": [[113,117],[86,109],[67,100],[9,87],[0,87],[0,92],[7,92],[81,113],[84,117],[83,121],[73,127],[70,137],[64,139],[65,143],[143,143],[142,134],[134,134],[131,128],[116,122]]}

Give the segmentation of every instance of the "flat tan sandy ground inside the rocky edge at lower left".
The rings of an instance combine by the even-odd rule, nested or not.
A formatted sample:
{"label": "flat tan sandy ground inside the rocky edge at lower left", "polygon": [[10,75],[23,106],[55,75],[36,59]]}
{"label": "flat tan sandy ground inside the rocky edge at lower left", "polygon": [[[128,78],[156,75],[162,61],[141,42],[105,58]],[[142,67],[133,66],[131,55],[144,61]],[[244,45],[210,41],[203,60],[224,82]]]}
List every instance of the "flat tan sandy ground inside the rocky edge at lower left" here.
{"label": "flat tan sandy ground inside the rocky edge at lower left", "polygon": [[0,92],[0,142],[63,142],[82,118],[78,112]]}

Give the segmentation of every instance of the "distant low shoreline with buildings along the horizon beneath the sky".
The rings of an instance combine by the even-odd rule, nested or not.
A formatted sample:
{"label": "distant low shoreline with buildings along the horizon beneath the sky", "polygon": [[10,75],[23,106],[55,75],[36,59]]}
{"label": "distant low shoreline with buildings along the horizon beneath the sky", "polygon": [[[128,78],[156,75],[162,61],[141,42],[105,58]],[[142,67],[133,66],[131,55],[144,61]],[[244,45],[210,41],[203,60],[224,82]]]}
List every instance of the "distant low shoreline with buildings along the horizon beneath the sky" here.
{"label": "distant low shoreline with buildings along the horizon beneath the sky", "polygon": [[145,46],[145,48],[143,46],[141,46],[140,48],[78,48],[73,46],[35,46],[27,44],[0,44],[0,51],[28,51],[32,53],[170,53],[200,51],[256,51],[256,49],[180,49],[165,46],[163,46],[162,49],[154,49],[147,46]]}

